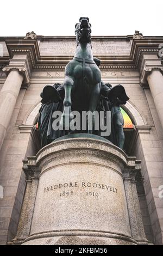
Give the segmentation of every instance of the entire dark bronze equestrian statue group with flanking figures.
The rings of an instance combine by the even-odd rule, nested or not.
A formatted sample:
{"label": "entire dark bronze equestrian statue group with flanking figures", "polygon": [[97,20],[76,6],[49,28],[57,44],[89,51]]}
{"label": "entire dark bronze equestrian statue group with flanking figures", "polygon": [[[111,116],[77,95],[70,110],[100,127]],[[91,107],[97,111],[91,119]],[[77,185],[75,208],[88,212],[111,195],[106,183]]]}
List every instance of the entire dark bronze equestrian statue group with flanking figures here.
{"label": "entire dark bronze equestrian statue group with flanking figures", "polygon": [[[41,93],[42,106],[38,121],[41,147],[68,133],[87,132],[101,136],[100,130],[71,131],[72,111],[79,113],[83,111],[90,111],[91,113],[110,111],[111,134],[105,138],[123,149],[123,117],[120,105],[126,104],[129,97],[121,84],[112,88],[111,84],[105,84],[101,81],[101,71],[99,70],[101,61],[93,57],[92,54],[89,19],[81,17],[75,28],[76,53],[73,60],[66,65],[64,83],[46,86]],[[53,113],[57,111],[62,113],[60,124],[64,130],[53,129]],[[92,123],[94,124],[94,122],[95,119],[93,118]]]}

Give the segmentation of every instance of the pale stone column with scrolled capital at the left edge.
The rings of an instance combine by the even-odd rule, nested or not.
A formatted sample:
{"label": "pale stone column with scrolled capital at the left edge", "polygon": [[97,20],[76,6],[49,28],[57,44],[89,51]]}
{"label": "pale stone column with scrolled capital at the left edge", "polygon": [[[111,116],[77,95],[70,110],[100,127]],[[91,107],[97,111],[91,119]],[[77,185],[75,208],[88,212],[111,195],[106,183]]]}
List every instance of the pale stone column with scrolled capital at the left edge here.
{"label": "pale stone column with scrolled capital at the left edge", "polygon": [[0,149],[20,92],[25,70],[24,68],[3,68],[3,71],[9,72],[9,75],[0,92]]}

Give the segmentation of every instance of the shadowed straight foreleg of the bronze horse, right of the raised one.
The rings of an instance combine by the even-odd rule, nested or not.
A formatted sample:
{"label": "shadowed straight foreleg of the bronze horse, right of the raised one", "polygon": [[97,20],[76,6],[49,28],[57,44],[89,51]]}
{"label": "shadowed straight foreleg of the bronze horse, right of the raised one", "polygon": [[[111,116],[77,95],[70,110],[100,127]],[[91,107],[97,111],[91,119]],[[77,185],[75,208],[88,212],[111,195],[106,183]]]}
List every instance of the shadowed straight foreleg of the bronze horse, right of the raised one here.
{"label": "shadowed straight foreleg of the bronze horse, right of the raised one", "polygon": [[[96,86],[93,87],[92,89],[90,102],[89,102],[89,111],[92,114],[92,127],[95,125],[95,114],[93,114],[93,112],[96,111],[97,105],[99,103],[100,93],[101,93],[100,83],[97,83]],[[89,118],[89,115],[88,115],[88,118]],[[93,130],[88,130],[87,132],[92,134]]]}

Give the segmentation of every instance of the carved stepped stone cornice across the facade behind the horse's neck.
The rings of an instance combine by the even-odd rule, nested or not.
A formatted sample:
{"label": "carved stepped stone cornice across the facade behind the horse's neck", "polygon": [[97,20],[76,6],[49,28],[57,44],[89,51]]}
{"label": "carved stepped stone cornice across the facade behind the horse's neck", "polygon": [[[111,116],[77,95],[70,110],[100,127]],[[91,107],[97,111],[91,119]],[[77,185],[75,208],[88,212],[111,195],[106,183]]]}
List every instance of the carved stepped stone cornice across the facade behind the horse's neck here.
{"label": "carved stepped stone cornice across the facade behind the horse's neck", "polygon": [[[40,40],[42,38],[47,39],[48,37],[41,36]],[[49,40],[72,40],[73,38],[74,36],[55,36],[49,37]],[[132,41],[131,52],[129,56],[96,56],[102,61],[100,66],[102,70],[139,70],[143,54],[157,54],[159,51],[159,44],[163,43],[162,36],[145,36],[144,38],[134,40],[131,40],[131,36],[95,36],[93,38],[98,40],[109,40],[113,38],[118,40],[126,38],[126,40]],[[39,36],[37,36],[37,39],[39,39]],[[32,70],[64,70],[66,64],[72,60],[73,56],[40,56],[37,39],[5,39],[10,58],[12,58],[14,54],[27,54]]]}

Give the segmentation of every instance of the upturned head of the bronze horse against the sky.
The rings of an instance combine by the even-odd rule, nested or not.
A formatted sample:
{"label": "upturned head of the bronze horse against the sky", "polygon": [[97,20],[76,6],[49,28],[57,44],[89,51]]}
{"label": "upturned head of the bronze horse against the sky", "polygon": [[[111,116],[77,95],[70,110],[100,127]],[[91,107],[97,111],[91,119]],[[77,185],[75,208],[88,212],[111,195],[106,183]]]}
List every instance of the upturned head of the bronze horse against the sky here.
{"label": "upturned head of the bronze horse against the sky", "polygon": [[79,23],[76,24],[76,37],[77,37],[77,45],[83,42],[91,41],[91,24],[89,23],[89,18],[80,17]]}

